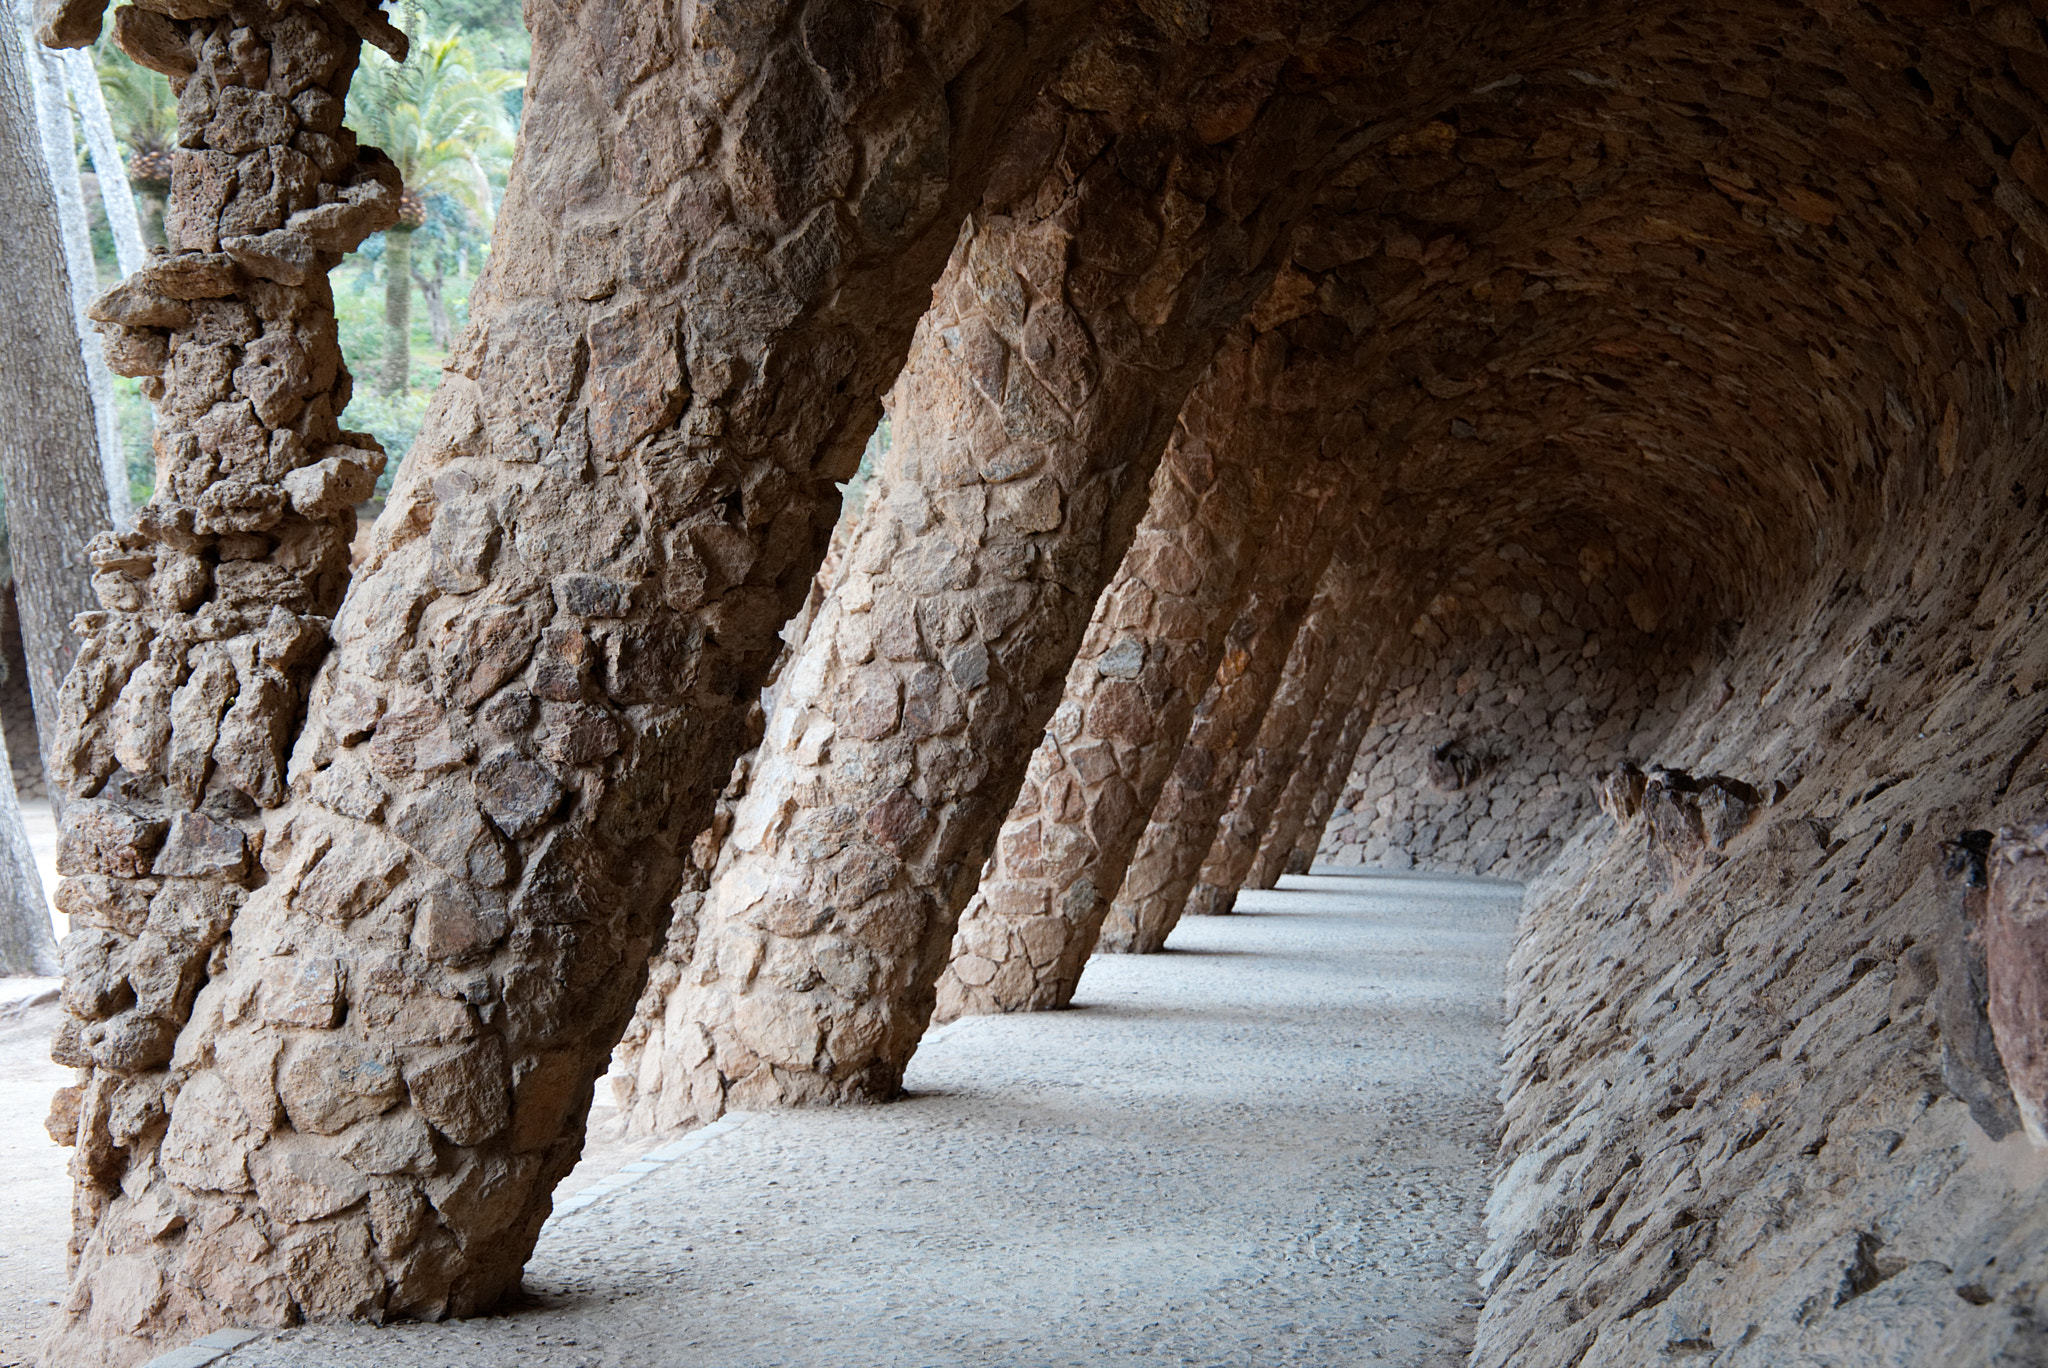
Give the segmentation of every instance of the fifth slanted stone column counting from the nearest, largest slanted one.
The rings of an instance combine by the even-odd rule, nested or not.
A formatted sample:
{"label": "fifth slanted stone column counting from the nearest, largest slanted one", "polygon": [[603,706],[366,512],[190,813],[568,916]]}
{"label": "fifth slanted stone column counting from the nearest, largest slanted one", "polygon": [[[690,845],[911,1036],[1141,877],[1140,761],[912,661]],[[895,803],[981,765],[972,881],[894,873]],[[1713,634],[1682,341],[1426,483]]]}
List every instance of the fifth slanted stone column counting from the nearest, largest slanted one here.
{"label": "fifth slanted stone column counting from the nearest, largest slanted one", "polygon": [[1380,571],[1358,547],[1352,551],[1352,557],[1339,557],[1329,567],[1309,621],[1294,639],[1294,653],[1260,723],[1257,743],[1239,768],[1217,840],[1188,893],[1190,915],[1231,911],[1282,793],[1307,768],[1315,719],[1325,709],[1358,698],[1366,670],[1378,655],[1378,623],[1366,612],[1366,600]]}

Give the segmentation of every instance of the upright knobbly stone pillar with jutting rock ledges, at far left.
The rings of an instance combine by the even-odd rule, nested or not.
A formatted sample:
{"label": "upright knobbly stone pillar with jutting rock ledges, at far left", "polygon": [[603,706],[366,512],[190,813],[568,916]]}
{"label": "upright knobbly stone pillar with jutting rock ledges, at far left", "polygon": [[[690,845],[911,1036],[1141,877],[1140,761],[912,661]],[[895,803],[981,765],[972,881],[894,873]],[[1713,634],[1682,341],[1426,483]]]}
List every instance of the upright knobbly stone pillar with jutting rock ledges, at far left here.
{"label": "upright knobbly stone pillar with jutting rock ledges, at far left", "polygon": [[[90,547],[100,610],[78,618],[51,745],[51,778],[74,799],[57,858],[68,1016],[51,1055],[80,1071],[51,1108],[51,1132],[74,1143],[80,1266],[43,1348],[53,1366],[147,1358],[190,1264],[156,1241],[197,1251],[213,1235],[186,1233],[197,1192],[246,1186],[236,1157],[186,1155],[188,1202],[158,1182],[154,1155],[193,1063],[176,1049],[195,993],[223,973],[227,930],[262,881],[289,729],[330,645],[356,504],[383,469],[375,440],[336,424],[350,377],[328,270],[395,221],[397,172],[356,147],[342,102],[358,31],[397,57],[406,41],[375,10],[350,25],[317,6],[223,8],[115,14],[123,51],[178,92],[178,149],[168,254],[92,305],[109,365],[156,401],[158,487],[131,530]],[[98,12],[80,25],[57,10],[41,37],[90,41]],[[260,1257],[223,1235],[201,1264]]]}

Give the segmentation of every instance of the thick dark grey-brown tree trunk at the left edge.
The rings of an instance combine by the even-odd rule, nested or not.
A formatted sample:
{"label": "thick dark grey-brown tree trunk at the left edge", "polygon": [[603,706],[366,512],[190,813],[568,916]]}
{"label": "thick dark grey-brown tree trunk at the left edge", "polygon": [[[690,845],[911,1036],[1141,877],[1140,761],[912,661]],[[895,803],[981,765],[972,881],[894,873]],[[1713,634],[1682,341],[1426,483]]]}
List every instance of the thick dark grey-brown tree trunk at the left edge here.
{"label": "thick dark grey-brown tree trunk at the left edge", "polygon": [[106,528],[106,481],[20,27],[12,16],[0,27],[0,233],[10,248],[0,272],[0,479],[29,696],[53,776],[57,694],[78,657],[72,618],[96,606],[86,543]]}

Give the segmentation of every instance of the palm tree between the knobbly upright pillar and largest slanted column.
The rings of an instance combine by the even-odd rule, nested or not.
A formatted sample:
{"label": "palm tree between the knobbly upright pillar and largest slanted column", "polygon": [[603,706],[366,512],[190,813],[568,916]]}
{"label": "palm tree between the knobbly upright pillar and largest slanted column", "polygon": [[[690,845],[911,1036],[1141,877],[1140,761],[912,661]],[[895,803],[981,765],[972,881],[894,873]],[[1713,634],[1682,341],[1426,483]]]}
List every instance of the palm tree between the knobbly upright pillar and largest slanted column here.
{"label": "palm tree between the knobbly upright pillar and largest slanted column", "polygon": [[[348,92],[348,123],[383,147],[406,178],[399,221],[385,231],[385,350],[379,389],[395,395],[412,379],[412,233],[426,223],[428,195],[459,205],[487,233],[494,203],[485,158],[510,158],[512,117],[504,94],[520,72],[483,70],[459,29],[414,43],[403,66],[367,51]],[[440,274],[434,272],[438,289]]]}

